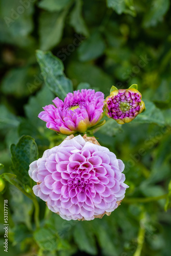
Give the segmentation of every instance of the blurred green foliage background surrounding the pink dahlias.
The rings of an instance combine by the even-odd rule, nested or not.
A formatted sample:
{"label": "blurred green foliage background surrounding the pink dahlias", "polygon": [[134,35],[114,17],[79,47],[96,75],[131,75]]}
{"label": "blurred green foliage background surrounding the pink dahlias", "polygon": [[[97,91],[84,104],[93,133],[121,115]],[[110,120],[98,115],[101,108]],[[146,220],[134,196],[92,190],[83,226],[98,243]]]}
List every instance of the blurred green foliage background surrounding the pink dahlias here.
{"label": "blurred green foliage background surrounding the pink dahlias", "polygon": [[[37,199],[36,228],[37,201],[6,182],[0,201],[1,255],[6,255],[3,209],[8,199],[9,256],[169,256],[171,192],[163,195],[171,191],[170,1],[1,0],[0,5],[0,162],[5,166],[0,174],[12,174],[13,161],[16,182],[23,174],[28,181],[36,144],[41,157],[65,138],[37,117],[55,97],[44,84],[37,49],[51,50],[63,61],[74,89],[90,87],[107,96],[112,85],[121,89],[137,83],[147,109],[123,126],[106,119],[95,131],[100,144],[125,163],[130,188],[121,206],[101,220],[67,222]],[[13,145],[11,161],[10,145],[23,135],[36,144],[24,137],[27,148]],[[23,183],[19,188],[31,195],[30,185]]]}

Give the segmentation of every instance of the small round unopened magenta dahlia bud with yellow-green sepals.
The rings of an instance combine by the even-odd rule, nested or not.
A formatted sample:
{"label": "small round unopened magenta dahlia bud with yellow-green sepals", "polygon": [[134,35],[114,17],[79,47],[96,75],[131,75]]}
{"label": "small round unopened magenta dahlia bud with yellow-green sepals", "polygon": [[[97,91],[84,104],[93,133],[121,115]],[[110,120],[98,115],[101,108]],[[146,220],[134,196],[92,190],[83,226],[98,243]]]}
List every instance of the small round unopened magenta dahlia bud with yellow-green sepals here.
{"label": "small round unopened magenta dahlia bud with yellow-green sepals", "polygon": [[145,111],[142,95],[137,90],[137,84],[129,89],[111,88],[111,94],[105,100],[105,114],[117,123],[131,122],[138,114]]}

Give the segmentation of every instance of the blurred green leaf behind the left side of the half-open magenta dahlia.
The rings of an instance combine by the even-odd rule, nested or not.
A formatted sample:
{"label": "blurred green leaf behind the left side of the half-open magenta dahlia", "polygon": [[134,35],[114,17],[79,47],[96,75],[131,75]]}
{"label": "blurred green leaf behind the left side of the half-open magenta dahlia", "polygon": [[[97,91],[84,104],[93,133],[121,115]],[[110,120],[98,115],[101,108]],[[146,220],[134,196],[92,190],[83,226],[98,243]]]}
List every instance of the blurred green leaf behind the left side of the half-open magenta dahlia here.
{"label": "blurred green leaf behind the left side of the half-open magenta dahlia", "polygon": [[29,122],[36,124],[36,127],[45,125],[45,122],[40,120],[37,116],[43,111],[42,107],[52,103],[54,94],[46,86],[42,87],[35,96],[29,98],[28,103],[24,106],[26,116]]}

